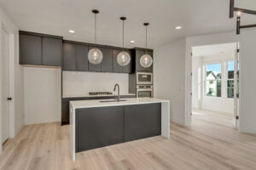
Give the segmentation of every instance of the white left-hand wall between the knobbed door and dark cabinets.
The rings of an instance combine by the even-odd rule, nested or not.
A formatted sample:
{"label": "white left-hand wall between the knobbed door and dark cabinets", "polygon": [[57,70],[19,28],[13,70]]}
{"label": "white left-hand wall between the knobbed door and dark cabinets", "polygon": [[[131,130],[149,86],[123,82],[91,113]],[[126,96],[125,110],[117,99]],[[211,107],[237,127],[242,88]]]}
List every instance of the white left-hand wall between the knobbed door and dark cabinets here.
{"label": "white left-hand wall between the knobbed door and dark cabinets", "polygon": [[[19,65],[19,30],[0,7],[0,26],[9,33],[9,75],[10,75],[10,137],[20,132],[24,125],[23,68]],[[0,33],[1,37],[1,33]],[[0,42],[1,43],[1,42]],[[1,44],[0,44],[1,48]],[[1,54],[1,49],[0,49]],[[1,107],[1,106],[0,106]],[[1,118],[0,118],[1,122]],[[0,133],[2,132],[0,126]],[[1,135],[0,135],[1,138]],[[0,139],[1,141],[1,139]],[[1,148],[0,148],[1,150]]]}

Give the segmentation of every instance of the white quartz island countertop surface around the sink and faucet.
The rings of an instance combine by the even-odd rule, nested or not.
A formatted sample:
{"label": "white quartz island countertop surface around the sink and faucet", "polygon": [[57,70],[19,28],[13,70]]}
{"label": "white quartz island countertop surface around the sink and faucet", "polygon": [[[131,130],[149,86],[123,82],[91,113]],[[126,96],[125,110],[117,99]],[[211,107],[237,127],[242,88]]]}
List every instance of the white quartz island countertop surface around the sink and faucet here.
{"label": "white quartz island countertop surface around the sink and faucet", "polygon": [[155,98],[129,98],[125,101],[114,101],[114,102],[101,102],[113,99],[94,99],[94,100],[77,100],[70,101],[70,104],[73,106],[73,109],[79,108],[92,108],[92,107],[107,107],[107,106],[116,106],[116,105],[142,105],[142,104],[151,104],[151,103],[164,103],[169,100],[166,99],[155,99]]}

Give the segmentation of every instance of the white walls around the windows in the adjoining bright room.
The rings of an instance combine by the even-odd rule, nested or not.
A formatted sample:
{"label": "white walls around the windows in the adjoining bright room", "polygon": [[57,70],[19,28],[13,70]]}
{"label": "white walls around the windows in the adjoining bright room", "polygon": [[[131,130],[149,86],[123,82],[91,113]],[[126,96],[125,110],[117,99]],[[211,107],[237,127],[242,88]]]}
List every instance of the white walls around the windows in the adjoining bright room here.
{"label": "white walls around the windows in the adjoining bright room", "polygon": [[[204,81],[205,81],[205,65],[221,62],[222,65],[222,77],[223,80],[226,79],[225,74],[226,67],[225,62],[235,59],[235,48],[233,51],[227,51],[223,54],[214,54],[201,57],[192,58],[192,107],[195,109],[203,109],[210,111],[220,111],[225,113],[234,113],[234,99],[228,99],[227,96],[227,83],[222,81],[222,96],[221,97],[209,97],[205,95],[204,92]],[[202,77],[200,77],[202,76]],[[203,80],[198,82],[198,80]]]}

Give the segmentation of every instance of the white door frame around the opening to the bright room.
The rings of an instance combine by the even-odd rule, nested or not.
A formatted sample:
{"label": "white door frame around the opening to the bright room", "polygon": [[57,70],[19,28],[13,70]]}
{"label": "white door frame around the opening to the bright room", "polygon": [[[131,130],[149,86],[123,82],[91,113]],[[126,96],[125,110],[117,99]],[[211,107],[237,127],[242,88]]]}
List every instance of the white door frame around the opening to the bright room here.
{"label": "white door frame around the opening to the bright room", "polygon": [[[191,126],[192,124],[192,47],[205,46],[224,43],[239,43],[239,36],[236,36],[236,32],[212,34],[199,37],[187,37],[186,38],[186,75],[185,75],[185,126]],[[240,46],[241,47],[241,46]],[[240,50],[241,51],[241,50]],[[241,57],[241,55],[240,55]],[[240,78],[242,73],[241,68],[242,59],[240,59]],[[241,79],[240,79],[241,80]],[[239,94],[241,95],[241,81],[239,81]],[[239,113],[241,116],[241,102],[239,102]],[[238,120],[240,124],[241,119]],[[239,129],[238,129],[239,130]]]}

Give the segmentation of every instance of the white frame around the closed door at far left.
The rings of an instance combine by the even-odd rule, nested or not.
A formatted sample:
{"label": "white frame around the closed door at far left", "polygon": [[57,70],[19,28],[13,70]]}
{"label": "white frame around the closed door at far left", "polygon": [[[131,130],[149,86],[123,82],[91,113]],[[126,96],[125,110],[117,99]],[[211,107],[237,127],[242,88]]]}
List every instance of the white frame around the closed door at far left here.
{"label": "white frame around the closed door at far left", "polygon": [[[9,38],[9,96],[12,100],[9,102],[9,138],[15,137],[15,32],[0,22],[0,57],[2,57],[2,29],[8,33]],[[1,65],[0,65],[1,69]],[[0,77],[0,82],[2,78]],[[0,90],[0,95],[2,95]],[[1,103],[0,103],[1,107]],[[2,122],[2,113],[0,111],[0,122]],[[0,141],[2,143],[2,126],[0,126]],[[3,146],[0,144],[0,153],[2,153]]]}

